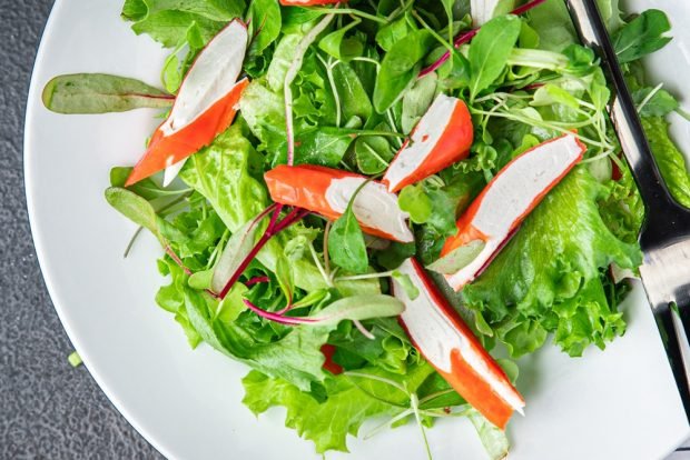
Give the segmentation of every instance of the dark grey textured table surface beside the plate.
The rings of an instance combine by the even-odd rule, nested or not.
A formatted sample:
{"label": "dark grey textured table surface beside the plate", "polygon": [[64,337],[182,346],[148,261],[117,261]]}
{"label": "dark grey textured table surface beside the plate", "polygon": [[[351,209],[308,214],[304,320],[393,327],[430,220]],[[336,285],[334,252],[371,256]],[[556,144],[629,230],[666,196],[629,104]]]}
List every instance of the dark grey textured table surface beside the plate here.
{"label": "dark grey textured table surface beside the plate", "polygon": [[[72,348],[31,241],[22,176],[23,118],[51,6],[51,0],[0,0],[0,459],[161,458],[117,412],[87,369],[68,363]],[[688,459],[686,450],[667,460]]]}

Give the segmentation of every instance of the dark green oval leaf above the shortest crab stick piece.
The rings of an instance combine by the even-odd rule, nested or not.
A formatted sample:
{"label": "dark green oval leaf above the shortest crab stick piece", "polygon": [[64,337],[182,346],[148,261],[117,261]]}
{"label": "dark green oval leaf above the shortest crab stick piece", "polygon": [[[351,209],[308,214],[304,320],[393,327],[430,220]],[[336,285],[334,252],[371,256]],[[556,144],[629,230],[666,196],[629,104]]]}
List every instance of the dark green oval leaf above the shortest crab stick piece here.
{"label": "dark green oval leaf above the shortest crab stick piece", "polygon": [[428,52],[434,38],[426,30],[410,32],[397,41],[381,61],[381,70],[374,87],[374,109],[385,112],[415,81],[422,59]]}

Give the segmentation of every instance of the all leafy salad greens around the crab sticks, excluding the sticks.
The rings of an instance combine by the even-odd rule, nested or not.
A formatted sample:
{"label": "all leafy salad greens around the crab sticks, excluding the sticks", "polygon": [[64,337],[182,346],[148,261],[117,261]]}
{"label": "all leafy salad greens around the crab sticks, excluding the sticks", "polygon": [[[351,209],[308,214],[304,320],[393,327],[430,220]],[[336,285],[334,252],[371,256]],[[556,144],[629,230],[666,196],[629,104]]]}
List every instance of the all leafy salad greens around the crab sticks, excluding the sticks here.
{"label": "all leafy salad greens around the crab sticks, excluding the sticks", "polygon": [[[70,74],[48,83],[43,102],[62,113],[167,110],[208,42],[244,21],[241,71],[250,82],[231,127],[187,159],[172,187],[158,177],[126,187],[128,167],[110,174],[108,202],[165,248],[158,270],[167,284],[156,302],[193,348],[205,342],[247,363],[244,403],[257,414],[285,407],[285,424],[319,453],[347,451],[347,437],[373,418],[382,424],[366,437],[416,421],[426,442],[437,418],[466,417],[489,457],[501,459],[505,432],[413,346],[395,318],[405,307],[391,296],[391,278],[413,299],[418,289],[396,270],[403,260],[447,271],[476,257],[481,244],[438,260],[456,219],[511,160],[569,134],[586,147],[584,159],[476,280],[455,293],[435,279],[485,348],[512,359],[550,337],[580,357],[622,336],[629,286],[610,267],[641,263],[644,209],[605,112],[604,74],[578,43],[562,0],[530,2],[521,16],[507,12],[525,2],[499,2],[479,31],[463,0],[312,3],[126,0],[121,16],[134,32],[169,52],[164,89]],[[690,207],[690,173],[666,118],[687,114],[673,94],[648,84],[640,63],[671,40],[669,20],[659,10],[624,16],[617,0],[599,4],[659,169]],[[467,104],[469,157],[397,196],[414,243],[366,234],[355,197],[387,169],[438,93]],[[264,173],[285,163],[368,179],[328,221],[274,202]],[[514,381],[515,363],[499,363]]]}

